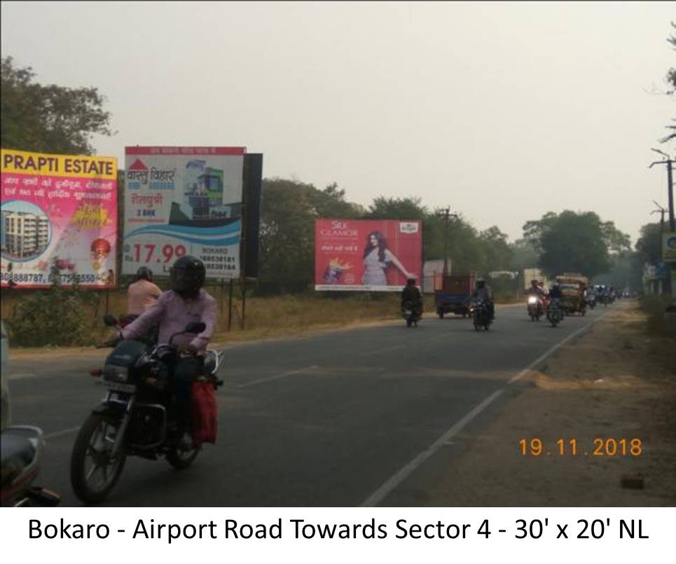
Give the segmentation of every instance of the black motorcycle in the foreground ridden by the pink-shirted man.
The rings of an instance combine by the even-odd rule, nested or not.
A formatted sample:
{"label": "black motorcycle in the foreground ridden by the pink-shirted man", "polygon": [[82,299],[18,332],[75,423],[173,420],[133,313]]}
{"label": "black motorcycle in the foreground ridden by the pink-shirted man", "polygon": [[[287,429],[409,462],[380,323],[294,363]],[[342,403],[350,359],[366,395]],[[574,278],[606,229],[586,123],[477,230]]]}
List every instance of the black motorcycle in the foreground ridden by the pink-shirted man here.
{"label": "black motorcycle in the foreground ridden by the pink-shirted man", "polygon": [[[119,326],[111,315],[106,315],[104,322]],[[103,369],[92,371],[96,383],[108,392],[83,423],[71,453],[71,486],[78,499],[87,503],[104,500],[118,481],[127,456],[164,457],[177,469],[189,467],[197,458],[201,445],[188,447],[181,441],[170,366],[179,358],[174,338],[204,330],[204,323],[190,323],[161,345],[121,341]],[[216,376],[221,362],[223,351],[207,350],[198,382],[209,383],[214,389],[223,385]]]}

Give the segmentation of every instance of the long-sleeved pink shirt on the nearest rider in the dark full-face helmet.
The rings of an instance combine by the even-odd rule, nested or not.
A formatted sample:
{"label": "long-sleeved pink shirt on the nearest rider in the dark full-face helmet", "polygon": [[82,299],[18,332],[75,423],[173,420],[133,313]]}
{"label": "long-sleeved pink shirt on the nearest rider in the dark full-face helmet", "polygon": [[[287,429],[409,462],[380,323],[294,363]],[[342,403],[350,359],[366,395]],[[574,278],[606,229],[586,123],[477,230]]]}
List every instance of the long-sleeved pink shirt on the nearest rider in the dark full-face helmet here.
{"label": "long-sleeved pink shirt on the nearest rider in the dark full-face helmet", "polygon": [[134,322],[122,330],[125,339],[133,339],[144,335],[153,326],[159,324],[160,334],[158,343],[169,343],[174,333],[186,329],[188,323],[204,323],[207,327],[202,333],[193,336],[189,333],[174,338],[174,345],[191,344],[199,351],[205,351],[209,339],[214,336],[216,329],[216,300],[204,290],[195,299],[184,300],[179,294],[167,290],[158,301]]}

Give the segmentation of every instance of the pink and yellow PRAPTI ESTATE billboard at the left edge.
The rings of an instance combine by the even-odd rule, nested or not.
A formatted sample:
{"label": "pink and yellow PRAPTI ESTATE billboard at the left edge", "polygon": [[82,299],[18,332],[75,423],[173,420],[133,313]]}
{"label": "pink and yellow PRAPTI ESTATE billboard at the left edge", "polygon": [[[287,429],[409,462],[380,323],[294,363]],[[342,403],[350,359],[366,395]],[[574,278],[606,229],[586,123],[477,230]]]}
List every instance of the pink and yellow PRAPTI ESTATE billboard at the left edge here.
{"label": "pink and yellow PRAPTI ESTATE billboard at the left edge", "polygon": [[116,284],[117,160],[1,150],[1,285]]}

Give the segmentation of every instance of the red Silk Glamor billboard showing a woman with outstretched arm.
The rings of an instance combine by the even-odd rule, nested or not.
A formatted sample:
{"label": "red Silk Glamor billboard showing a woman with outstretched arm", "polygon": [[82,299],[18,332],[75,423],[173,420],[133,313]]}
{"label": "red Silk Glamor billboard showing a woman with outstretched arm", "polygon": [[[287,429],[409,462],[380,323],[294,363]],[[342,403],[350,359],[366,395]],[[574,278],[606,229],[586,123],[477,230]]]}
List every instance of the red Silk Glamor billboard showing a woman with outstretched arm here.
{"label": "red Silk Glamor billboard showing a woman with outstretched arm", "polygon": [[422,223],[315,220],[315,289],[400,291],[422,280]]}

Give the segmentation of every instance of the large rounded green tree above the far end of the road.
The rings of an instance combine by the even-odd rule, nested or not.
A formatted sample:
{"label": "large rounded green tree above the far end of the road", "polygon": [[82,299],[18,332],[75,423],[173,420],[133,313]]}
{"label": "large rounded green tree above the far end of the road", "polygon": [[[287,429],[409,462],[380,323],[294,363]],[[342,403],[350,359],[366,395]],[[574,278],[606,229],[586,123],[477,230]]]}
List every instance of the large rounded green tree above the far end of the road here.
{"label": "large rounded green tree above the far end of the road", "polygon": [[629,249],[628,235],[594,212],[549,212],[523,226],[525,239],[539,252],[549,277],[579,272],[594,277],[612,267],[611,253]]}

